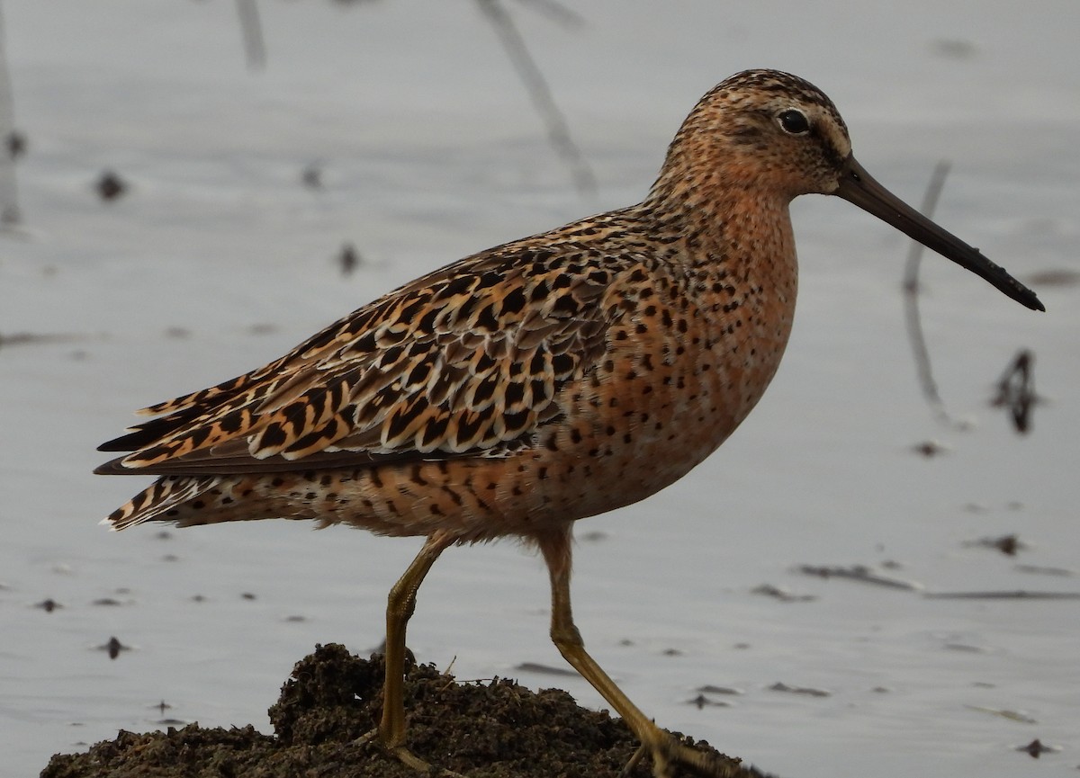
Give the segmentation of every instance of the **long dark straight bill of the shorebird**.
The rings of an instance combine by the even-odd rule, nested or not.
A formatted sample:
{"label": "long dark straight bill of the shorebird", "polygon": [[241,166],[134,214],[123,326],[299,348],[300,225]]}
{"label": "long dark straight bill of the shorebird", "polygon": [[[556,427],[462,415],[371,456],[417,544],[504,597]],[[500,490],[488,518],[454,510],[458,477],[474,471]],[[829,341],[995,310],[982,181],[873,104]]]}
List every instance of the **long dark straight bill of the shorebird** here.
{"label": "long dark straight bill of the shorebird", "polygon": [[1045,311],[1036,294],[1013,278],[1005,269],[995,264],[977,248],[969,246],[950,232],[937,227],[915,208],[882,187],[854,156],[849,156],[840,187],[834,194],[854,203],[868,214],[874,214],[908,237],[932,248],[946,259],[990,282],[998,289],[1032,311]]}

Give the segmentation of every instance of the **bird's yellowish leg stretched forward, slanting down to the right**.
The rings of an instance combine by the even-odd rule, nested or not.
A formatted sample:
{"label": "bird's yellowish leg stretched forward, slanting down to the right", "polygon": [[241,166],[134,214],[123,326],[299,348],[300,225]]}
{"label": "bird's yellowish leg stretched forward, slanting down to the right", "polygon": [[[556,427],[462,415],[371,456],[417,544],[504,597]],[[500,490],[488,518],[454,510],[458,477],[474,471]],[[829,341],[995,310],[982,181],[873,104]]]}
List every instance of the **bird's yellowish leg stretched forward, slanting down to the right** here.
{"label": "bird's yellowish leg stretched forward, slanting down to the right", "polygon": [[656,778],[667,778],[675,764],[706,778],[728,778],[734,775],[735,768],[678,742],[674,736],[653,724],[585,652],[584,642],[573,624],[570,609],[570,532],[567,530],[544,535],[538,538],[538,543],[551,574],[552,642],[573,669],[615,708],[631,732],[642,741],[642,748],[631,759],[623,775],[638,762],[643,751],[648,751],[652,755],[652,774]]}

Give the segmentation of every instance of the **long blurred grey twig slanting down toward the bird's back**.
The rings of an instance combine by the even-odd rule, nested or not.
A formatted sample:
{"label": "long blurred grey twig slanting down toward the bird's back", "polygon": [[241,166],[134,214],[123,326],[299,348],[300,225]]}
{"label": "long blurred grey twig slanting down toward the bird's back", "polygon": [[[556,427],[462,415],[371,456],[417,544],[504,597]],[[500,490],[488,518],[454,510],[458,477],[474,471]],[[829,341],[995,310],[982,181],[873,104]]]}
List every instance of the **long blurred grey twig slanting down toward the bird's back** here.
{"label": "long blurred grey twig slanting down toward the bird's back", "polygon": [[[525,88],[536,107],[537,112],[548,126],[548,139],[563,161],[570,166],[573,182],[578,191],[586,196],[596,193],[596,178],[592,168],[585,162],[581,151],[578,149],[573,138],[570,137],[570,129],[566,123],[555,100],[552,97],[551,88],[544,80],[543,73],[537,67],[536,62],[529,54],[525,45],[525,39],[514,25],[513,19],[499,0],[476,0],[481,11],[499,37],[499,42],[507,51],[507,55],[514,65],[517,76],[525,84]],[[548,3],[551,6],[551,3]],[[552,6],[558,8],[558,6]]]}

